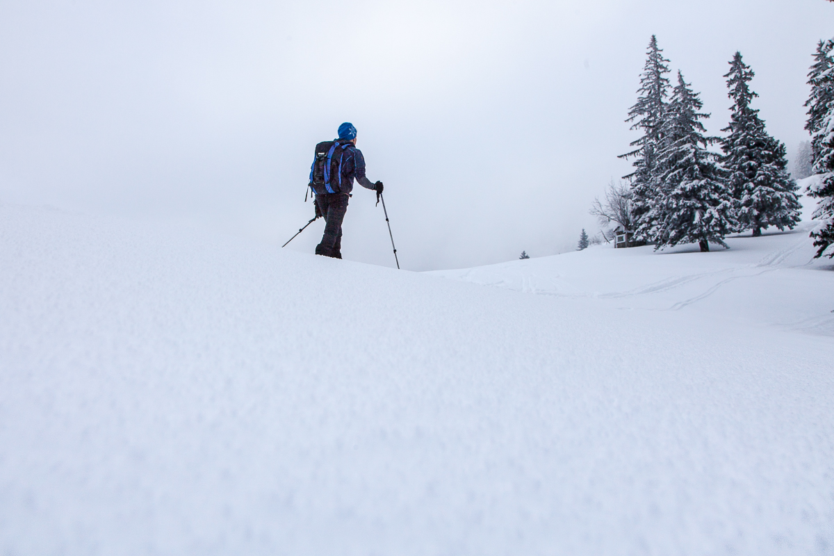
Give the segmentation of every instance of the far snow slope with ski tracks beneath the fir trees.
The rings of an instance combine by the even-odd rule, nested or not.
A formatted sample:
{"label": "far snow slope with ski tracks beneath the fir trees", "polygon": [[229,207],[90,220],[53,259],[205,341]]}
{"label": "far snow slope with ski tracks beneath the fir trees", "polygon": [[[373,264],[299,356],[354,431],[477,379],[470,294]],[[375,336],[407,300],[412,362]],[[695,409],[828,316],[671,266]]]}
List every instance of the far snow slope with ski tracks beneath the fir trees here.
{"label": "far snow slope with ski tracks beneath the fir trees", "polygon": [[815,223],[760,238],[727,238],[730,249],[651,246],[530,258],[437,276],[525,293],[583,298],[597,307],[681,311],[703,323],[739,321],[834,336],[834,264],[814,259]]}

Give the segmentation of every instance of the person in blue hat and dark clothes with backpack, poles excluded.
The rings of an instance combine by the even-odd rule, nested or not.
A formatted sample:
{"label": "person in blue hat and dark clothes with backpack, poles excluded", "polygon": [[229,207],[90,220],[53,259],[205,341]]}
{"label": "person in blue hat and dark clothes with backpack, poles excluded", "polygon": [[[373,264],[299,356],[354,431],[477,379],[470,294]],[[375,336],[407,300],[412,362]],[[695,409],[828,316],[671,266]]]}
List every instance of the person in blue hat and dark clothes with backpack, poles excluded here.
{"label": "person in blue hat and dark clothes with backpack, poles excluded", "polygon": [[345,122],[339,126],[339,138],[324,141],[315,147],[310,168],[309,187],[315,198],[315,216],[324,217],[324,235],[316,245],[315,254],[342,258],[342,220],[348,210],[354,178],[363,188],[382,193],[382,182],[371,183],[365,177],[364,157],[356,148],[356,128]]}

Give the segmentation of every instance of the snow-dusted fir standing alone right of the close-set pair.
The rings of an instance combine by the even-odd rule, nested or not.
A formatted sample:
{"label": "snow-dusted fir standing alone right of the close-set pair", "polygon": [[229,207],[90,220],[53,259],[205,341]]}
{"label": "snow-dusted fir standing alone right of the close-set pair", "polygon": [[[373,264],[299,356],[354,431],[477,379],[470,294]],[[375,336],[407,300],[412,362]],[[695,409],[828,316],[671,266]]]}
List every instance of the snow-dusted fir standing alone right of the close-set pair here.
{"label": "snow-dusted fir standing alone right of the close-set pair", "polygon": [[796,182],[787,173],[785,145],[765,131],[759,111],[750,106],[758,97],[747,85],[754,75],[736,52],[730,72],[724,76],[733,106],[730,125],[721,130],[729,133],[721,141],[721,162],[736,199],[738,231],[751,229],[753,236],[761,236],[762,228],[796,227],[801,207],[796,200]]}

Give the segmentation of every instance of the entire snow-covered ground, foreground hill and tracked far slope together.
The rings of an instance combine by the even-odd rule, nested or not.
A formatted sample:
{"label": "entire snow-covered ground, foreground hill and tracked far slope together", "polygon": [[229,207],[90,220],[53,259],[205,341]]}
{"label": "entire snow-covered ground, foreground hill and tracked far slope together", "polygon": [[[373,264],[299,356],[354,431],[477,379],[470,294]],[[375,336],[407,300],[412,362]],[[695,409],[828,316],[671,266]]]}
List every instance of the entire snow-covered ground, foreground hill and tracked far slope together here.
{"label": "entire snow-covered ground, foreground hill and tracked far slope together", "polygon": [[728,243],[485,288],[0,206],[0,553],[834,553],[831,263]]}

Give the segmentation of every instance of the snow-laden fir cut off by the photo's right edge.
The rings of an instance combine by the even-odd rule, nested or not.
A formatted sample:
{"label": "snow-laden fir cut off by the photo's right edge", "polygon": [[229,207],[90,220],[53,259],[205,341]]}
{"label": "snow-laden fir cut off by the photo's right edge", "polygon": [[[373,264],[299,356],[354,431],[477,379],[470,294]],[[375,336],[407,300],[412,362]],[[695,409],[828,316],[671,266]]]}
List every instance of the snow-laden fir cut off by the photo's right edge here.
{"label": "snow-laden fir cut off by the photo's right edge", "polygon": [[[820,199],[814,216],[821,221],[820,228],[811,232],[817,248],[815,257],[821,257],[834,243],[834,63],[831,50],[834,39],[820,42],[816,48],[815,63],[808,73],[811,96],[806,106],[806,129],[811,132],[811,156],[813,172],[820,180],[808,188],[808,194]],[[834,250],[828,253],[834,257]]]}

